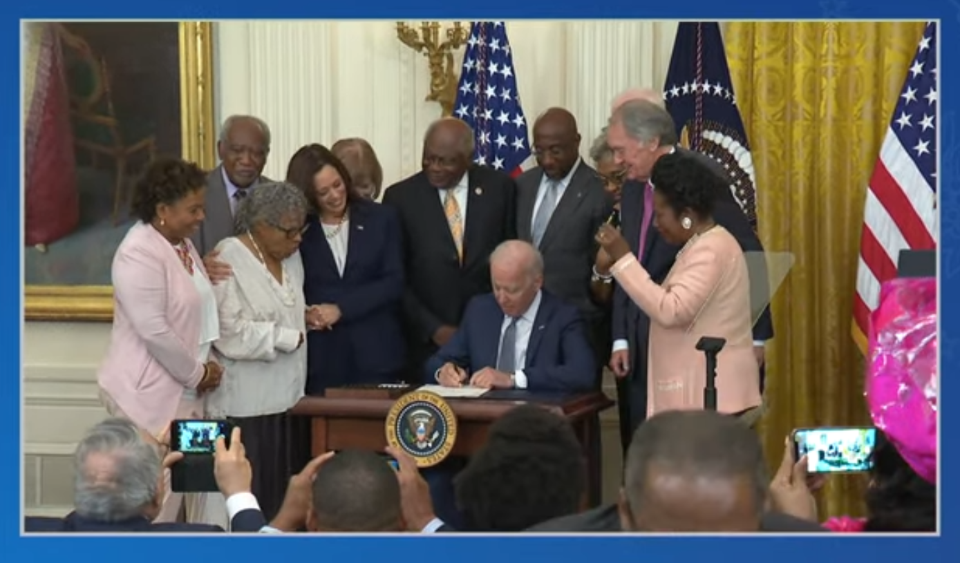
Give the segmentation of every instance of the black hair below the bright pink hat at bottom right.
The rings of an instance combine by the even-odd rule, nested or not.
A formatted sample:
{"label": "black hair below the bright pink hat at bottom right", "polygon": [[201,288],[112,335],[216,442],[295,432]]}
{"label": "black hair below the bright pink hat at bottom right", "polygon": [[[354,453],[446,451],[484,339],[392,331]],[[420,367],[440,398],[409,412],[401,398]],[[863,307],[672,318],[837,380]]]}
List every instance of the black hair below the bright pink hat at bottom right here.
{"label": "black hair below the bright pink hat at bottom right", "polygon": [[876,431],[873,460],[866,531],[936,531],[936,485],[917,475],[880,431]]}

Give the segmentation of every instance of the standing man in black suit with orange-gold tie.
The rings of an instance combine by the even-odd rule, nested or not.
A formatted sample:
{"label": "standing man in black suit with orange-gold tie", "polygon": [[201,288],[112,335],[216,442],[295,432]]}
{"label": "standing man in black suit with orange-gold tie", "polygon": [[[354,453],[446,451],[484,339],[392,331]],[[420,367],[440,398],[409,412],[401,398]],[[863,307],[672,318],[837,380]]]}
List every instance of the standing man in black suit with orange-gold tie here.
{"label": "standing man in black suit with orange-gold tie", "polygon": [[516,238],[516,183],[472,165],[473,149],[466,123],[435,122],[423,140],[422,171],[383,196],[396,208],[404,235],[411,384],[422,381],[423,363],[452,338],[468,301],[491,291],[493,248]]}

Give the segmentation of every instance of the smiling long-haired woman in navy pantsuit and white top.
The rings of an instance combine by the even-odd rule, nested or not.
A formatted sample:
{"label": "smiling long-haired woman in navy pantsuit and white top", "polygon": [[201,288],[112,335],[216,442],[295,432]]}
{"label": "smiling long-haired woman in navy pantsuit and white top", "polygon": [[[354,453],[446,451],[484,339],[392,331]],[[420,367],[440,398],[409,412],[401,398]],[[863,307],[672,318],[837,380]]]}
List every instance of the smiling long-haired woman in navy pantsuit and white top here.
{"label": "smiling long-haired woman in navy pantsuit and white top", "polygon": [[394,210],[357,197],[344,164],[322,145],[293,155],[287,181],[312,206],[300,244],[311,328],[307,394],[395,383],[406,348],[403,250]]}

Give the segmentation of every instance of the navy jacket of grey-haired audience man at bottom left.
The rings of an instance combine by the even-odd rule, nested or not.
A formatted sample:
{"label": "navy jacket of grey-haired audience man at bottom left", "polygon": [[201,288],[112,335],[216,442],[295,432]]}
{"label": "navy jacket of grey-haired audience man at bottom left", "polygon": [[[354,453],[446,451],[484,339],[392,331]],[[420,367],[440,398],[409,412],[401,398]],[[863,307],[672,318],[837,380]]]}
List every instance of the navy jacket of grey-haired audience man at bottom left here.
{"label": "navy jacket of grey-haired audience man at bottom left", "polygon": [[[263,512],[255,509],[241,510],[233,517],[230,528],[236,533],[260,531],[267,525]],[[164,523],[154,524],[146,518],[136,517],[120,522],[97,522],[71,512],[65,518],[28,516],[24,519],[27,533],[223,533],[224,528],[210,524]]]}

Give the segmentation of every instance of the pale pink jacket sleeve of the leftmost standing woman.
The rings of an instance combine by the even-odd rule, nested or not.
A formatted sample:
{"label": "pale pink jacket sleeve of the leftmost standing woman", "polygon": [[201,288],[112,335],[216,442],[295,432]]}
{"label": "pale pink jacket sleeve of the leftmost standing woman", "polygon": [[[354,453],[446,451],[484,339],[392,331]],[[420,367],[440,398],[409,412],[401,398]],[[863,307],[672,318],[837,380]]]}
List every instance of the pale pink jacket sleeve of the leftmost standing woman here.
{"label": "pale pink jacket sleeve of the leftmost standing woman", "polygon": [[119,254],[113,268],[113,291],[125,304],[133,330],[147,351],[183,387],[196,388],[204,364],[196,351],[177,336],[167,319],[167,274],[147,248],[132,246]]}

